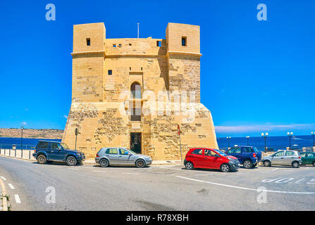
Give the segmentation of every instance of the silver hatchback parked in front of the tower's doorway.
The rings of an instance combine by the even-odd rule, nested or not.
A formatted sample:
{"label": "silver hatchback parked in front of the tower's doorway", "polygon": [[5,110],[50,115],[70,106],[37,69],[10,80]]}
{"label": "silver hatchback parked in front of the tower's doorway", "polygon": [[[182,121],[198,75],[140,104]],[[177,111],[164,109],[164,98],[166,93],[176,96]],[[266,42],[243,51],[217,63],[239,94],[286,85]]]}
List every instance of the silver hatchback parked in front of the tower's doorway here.
{"label": "silver hatchback parked in front of the tower's doorway", "polygon": [[141,155],[127,148],[101,148],[97,153],[95,162],[101,167],[109,165],[135,165],[138,168],[151,165],[152,158]]}

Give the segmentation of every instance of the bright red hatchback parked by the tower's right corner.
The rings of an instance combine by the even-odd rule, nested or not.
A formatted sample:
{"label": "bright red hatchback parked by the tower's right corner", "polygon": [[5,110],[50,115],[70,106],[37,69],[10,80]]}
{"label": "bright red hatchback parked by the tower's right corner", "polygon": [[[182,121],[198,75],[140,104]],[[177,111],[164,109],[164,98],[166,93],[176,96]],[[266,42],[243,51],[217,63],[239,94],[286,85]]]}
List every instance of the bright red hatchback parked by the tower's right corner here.
{"label": "bright red hatchback parked by the tower's right corner", "polygon": [[184,165],[186,169],[221,169],[222,172],[240,168],[237,158],[214,148],[190,148],[186,154]]}

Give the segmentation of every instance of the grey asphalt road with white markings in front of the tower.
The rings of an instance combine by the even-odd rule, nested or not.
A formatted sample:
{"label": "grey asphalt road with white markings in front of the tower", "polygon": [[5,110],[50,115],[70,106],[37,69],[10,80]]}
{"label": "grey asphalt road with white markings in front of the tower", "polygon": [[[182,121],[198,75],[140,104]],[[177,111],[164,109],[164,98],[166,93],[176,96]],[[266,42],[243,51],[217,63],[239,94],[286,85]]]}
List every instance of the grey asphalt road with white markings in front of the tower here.
{"label": "grey asphalt road with white markings in front of the tower", "polygon": [[0,157],[0,179],[13,211],[315,210],[312,166],[240,168],[223,173],[190,171],[181,165],[143,169],[39,165]]}

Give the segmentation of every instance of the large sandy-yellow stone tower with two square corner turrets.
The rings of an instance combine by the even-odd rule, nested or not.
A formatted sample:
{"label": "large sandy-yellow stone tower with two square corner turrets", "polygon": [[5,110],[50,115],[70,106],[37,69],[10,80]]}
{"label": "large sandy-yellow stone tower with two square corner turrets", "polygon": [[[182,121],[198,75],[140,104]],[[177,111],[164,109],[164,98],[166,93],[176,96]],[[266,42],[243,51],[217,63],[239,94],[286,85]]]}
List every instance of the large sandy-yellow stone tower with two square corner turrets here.
{"label": "large sandy-yellow stone tower with two square corner turrets", "polygon": [[104,23],[73,26],[72,103],[63,142],[87,158],[126,147],[153,160],[218,148],[200,103],[199,26],[168,23],[166,39],[106,39]]}

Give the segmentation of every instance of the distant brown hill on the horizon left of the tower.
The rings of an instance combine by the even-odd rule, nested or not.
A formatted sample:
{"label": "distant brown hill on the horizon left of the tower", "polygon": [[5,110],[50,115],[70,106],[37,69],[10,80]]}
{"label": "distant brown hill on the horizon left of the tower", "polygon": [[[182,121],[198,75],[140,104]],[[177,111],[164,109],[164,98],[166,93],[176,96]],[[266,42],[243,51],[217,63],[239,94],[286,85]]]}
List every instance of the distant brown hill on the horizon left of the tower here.
{"label": "distant brown hill on the horizon left of the tower", "polygon": [[[20,138],[21,129],[0,128],[0,137]],[[61,129],[23,129],[23,138],[31,139],[62,139]]]}

